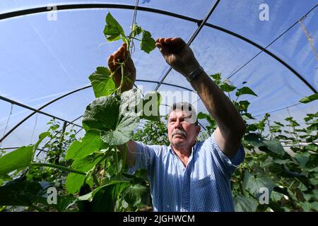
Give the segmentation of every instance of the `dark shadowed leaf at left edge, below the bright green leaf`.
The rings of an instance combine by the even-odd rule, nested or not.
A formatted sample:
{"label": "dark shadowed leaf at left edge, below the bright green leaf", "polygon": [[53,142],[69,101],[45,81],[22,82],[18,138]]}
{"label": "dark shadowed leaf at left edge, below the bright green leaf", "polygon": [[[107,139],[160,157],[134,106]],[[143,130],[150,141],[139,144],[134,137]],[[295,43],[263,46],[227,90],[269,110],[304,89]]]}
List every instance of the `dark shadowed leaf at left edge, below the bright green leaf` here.
{"label": "dark shadowed leaf at left edge, below the bright green leaf", "polygon": [[45,196],[49,186],[47,182],[15,179],[0,186],[0,206],[31,206]]}

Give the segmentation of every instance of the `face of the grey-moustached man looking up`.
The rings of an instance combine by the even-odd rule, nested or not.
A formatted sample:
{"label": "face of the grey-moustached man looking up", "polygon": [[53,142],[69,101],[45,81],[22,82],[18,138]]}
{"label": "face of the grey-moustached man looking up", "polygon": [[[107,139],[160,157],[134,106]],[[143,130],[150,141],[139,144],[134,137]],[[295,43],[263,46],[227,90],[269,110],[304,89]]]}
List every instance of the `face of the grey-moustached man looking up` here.
{"label": "face of the grey-moustached man looking up", "polygon": [[199,134],[200,126],[191,120],[191,112],[172,111],[168,119],[168,138],[176,148],[191,148]]}

